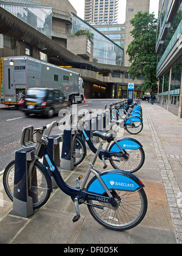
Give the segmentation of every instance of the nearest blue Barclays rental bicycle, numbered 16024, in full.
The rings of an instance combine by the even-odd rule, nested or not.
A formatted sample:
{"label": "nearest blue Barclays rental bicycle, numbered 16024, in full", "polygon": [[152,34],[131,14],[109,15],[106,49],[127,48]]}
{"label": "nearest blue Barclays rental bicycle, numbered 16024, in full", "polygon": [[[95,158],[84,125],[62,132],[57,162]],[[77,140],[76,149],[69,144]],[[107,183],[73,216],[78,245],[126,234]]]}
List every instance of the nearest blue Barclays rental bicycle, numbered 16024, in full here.
{"label": "nearest blue Barclays rental bicycle, numbered 16024, in full", "polygon": [[[102,141],[92,162],[89,164],[83,183],[79,185],[80,176],[76,180],[76,187],[70,187],[62,179],[58,168],[49,154],[49,149],[47,149],[50,132],[55,126],[58,126],[57,121],[41,129],[35,129],[36,142],[32,139],[32,143],[29,143],[34,148],[34,156],[29,163],[28,169],[29,196],[32,197],[33,208],[41,207],[49,199],[52,191],[51,175],[55,179],[58,187],[72,197],[76,210],[73,222],[78,221],[80,218],[79,205],[86,204],[93,218],[107,229],[123,231],[132,229],[138,225],[147,212],[147,197],[141,180],[133,176],[133,174],[119,169],[100,172],[94,168],[99,151],[101,151],[103,146],[103,141],[112,140],[113,134],[97,131],[94,133]],[[26,127],[25,129],[30,134],[30,130],[32,129],[30,127]],[[42,158],[47,163],[46,166],[39,162]],[[12,172],[13,165],[9,165],[9,168],[7,166],[4,172],[3,182],[5,191],[13,200],[8,179]],[[94,176],[89,180],[91,173]],[[12,177],[10,178],[12,179]],[[16,190],[19,190],[19,184],[15,184],[15,193]]]}

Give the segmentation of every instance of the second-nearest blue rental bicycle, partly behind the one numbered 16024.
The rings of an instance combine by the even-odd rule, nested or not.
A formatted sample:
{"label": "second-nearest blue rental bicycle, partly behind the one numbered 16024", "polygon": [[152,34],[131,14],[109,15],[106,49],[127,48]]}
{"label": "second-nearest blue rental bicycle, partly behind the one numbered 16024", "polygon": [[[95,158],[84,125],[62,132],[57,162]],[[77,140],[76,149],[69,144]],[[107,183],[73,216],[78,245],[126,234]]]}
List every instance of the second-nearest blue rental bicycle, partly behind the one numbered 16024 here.
{"label": "second-nearest blue rental bicycle, partly behind the one numbered 16024", "polygon": [[[76,130],[76,133],[73,136],[72,156],[74,157],[74,166],[83,162],[87,155],[86,143],[84,141],[87,142],[94,154],[96,154],[97,151],[90,139],[87,127],[85,129],[84,126],[85,118],[88,113],[90,114],[92,112],[89,112],[88,110],[83,113],[83,118],[79,120],[79,123],[83,123],[80,128],[81,130]],[[123,128],[122,120],[112,120],[112,123]],[[134,138],[120,138],[116,140],[116,138],[114,138],[115,134],[116,133],[113,133],[113,140],[107,141],[105,149],[102,148],[101,151],[99,151],[98,157],[103,161],[104,169],[107,168],[106,160],[109,160],[110,164],[115,169],[122,169],[128,172],[138,171],[143,166],[145,160],[142,144]]]}

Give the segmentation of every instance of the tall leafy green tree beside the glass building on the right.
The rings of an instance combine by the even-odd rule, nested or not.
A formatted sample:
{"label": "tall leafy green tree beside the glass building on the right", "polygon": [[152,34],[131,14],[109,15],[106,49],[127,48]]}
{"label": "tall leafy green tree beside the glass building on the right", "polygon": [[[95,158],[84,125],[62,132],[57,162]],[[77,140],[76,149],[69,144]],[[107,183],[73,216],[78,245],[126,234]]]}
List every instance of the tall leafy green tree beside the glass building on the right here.
{"label": "tall leafy green tree beside the glass building on the right", "polygon": [[130,31],[133,41],[126,51],[129,62],[132,63],[128,70],[129,76],[133,80],[144,76],[144,82],[140,87],[144,91],[147,88],[157,91],[157,54],[155,52],[157,19],[153,13],[138,12],[130,23],[133,25],[133,30]]}

